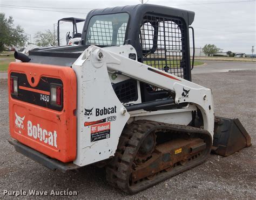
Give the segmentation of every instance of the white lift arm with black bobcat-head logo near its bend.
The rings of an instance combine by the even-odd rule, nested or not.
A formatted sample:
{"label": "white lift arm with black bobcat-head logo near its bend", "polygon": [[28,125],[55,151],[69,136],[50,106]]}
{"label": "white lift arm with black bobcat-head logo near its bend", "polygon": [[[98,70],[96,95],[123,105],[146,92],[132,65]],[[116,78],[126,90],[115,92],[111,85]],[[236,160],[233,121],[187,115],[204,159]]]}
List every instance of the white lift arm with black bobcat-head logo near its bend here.
{"label": "white lift arm with black bobcat-head logo near its bend", "polygon": [[[131,45],[128,46],[131,49],[133,48]],[[174,102],[176,104],[188,102],[197,105],[203,115],[204,129],[210,132],[213,137],[214,106],[211,89],[122,55],[106,51],[104,48],[90,46],[83,54],[84,58],[92,56],[95,60],[95,66],[106,65],[109,72],[118,72],[158,88],[175,92]]]}

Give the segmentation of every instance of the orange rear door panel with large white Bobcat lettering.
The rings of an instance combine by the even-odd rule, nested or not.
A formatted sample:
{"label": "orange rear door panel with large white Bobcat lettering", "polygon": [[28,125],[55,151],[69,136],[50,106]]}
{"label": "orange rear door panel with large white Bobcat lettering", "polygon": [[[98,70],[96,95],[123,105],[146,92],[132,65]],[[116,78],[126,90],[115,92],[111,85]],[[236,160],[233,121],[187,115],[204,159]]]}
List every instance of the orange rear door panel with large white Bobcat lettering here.
{"label": "orange rear door panel with large white Bobcat lettering", "polygon": [[[36,89],[42,77],[58,78],[63,83],[63,108],[61,111],[43,108],[18,101],[9,95],[10,134],[24,145],[62,162],[76,158],[76,75],[70,67],[12,62],[11,73],[25,74],[29,85],[19,85],[19,90],[35,95],[48,95],[50,91]],[[50,76],[49,76],[50,74]],[[10,82],[8,83],[10,90]],[[9,91],[10,93],[10,91]]]}

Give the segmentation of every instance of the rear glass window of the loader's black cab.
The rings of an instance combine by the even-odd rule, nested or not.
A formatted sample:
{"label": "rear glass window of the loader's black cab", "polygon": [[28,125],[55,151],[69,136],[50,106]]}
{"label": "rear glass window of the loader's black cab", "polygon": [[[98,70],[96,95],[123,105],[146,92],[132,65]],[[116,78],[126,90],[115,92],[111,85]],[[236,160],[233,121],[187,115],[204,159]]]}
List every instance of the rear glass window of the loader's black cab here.
{"label": "rear glass window of the loader's black cab", "polygon": [[127,13],[96,15],[90,19],[86,33],[86,45],[120,46],[124,45]]}

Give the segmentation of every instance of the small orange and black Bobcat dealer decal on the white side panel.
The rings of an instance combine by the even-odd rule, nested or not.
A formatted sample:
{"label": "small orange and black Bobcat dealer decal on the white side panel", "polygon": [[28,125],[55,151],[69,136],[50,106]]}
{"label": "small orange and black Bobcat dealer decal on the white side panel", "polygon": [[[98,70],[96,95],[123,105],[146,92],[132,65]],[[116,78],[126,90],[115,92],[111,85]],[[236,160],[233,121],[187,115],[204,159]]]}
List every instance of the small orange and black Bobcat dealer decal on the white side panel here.
{"label": "small orange and black Bobcat dealer decal on the white side panel", "polygon": [[91,126],[91,142],[110,138],[110,122]]}

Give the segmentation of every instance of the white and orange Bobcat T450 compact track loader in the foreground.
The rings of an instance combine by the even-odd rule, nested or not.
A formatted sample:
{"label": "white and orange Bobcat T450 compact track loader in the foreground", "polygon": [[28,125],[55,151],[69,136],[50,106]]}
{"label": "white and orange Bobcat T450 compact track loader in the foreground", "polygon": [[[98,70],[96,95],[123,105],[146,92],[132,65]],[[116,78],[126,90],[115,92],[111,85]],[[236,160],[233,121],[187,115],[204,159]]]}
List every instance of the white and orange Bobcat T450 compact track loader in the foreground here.
{"label": "white and orange Bobcat T450 compact track loader in the foreground", "polygon": [[[15,53],[10,144],[62,172],[95,163],[133,194],[251,145],[191,82],[194,12],[143,4],[92,10],[78,46]],[[193,31],[192,31],[193,33]]]}

